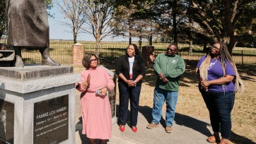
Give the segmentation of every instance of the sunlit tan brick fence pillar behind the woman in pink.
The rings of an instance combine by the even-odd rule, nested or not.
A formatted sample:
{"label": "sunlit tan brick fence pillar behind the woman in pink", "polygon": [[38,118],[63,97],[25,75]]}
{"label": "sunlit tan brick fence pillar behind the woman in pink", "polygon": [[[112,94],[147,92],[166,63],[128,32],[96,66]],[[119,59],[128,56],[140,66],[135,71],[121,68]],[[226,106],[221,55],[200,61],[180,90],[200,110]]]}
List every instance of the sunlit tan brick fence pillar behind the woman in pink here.
{"label": "sunlit tan brick fence pillar behind the woman in pink", "polygon": [[76,43],[73,45],[73,65],[82,65],[83,53],[83,44]]}

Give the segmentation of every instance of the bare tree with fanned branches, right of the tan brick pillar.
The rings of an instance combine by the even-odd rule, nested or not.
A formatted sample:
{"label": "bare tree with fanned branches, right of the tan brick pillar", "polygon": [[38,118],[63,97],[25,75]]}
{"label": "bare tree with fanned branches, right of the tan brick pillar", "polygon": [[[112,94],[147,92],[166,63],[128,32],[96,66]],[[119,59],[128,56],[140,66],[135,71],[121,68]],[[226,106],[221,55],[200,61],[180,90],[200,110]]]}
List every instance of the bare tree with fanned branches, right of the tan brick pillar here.
{"label": "bare tree with fanned branches, right of the tan brick pillar", "polygon": [[95,37],[96,48],[99,47],[100,41],[112,32],[108,25],[112,19],[112,11],[113,6],[110,0],[83,0],[83,13],[86,16],[83,30]]}

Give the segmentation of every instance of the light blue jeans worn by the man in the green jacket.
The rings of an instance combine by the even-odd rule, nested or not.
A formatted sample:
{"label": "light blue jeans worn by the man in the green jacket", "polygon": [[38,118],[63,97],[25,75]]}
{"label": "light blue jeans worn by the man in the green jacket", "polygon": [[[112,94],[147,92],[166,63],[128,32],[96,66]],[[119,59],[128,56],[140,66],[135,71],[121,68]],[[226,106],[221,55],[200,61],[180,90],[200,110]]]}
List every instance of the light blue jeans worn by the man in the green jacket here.
{"label": "light blue jeans worn by the man in the green jacket", "polygon": [[158,124],[162,116],[163,103],[166,100],[165,125],[173,126],[175,107],[178,100],[178,91],[163,90],[155,88],[153,92],[152,122]]}

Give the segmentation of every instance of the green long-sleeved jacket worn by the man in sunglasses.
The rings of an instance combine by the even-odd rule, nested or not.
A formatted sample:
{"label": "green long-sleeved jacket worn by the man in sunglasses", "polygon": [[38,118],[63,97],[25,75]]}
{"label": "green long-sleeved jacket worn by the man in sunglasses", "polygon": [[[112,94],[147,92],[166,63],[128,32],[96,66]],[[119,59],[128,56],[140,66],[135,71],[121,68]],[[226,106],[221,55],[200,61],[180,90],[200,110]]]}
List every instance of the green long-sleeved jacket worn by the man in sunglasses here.
{"label": "green long-sleeved jacket worn by the man in sunglasses", "polygon": [[[185,62],[177,54],[168,56],[167,54],[158,54],[154,61],[153,68],[156,72],[156,88],[163,90],[178,91],[180,85],[180,76],[185,72]],[[158,75],[163,73],[168,82],[164,83]]]}

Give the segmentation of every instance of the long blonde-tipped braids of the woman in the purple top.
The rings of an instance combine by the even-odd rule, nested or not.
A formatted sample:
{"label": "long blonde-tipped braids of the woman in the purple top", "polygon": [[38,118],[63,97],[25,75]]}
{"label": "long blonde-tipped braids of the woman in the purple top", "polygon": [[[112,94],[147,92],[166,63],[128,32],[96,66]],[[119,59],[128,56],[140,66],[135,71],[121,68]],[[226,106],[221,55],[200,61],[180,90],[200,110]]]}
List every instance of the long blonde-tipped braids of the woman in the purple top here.
{"label": "long blonde-tipped braids of the woman in the purple top", "polygon": [[[226,68],[225,60],[226,60],[231,64],[231,66],[233,67],[233,70],[235,71],[235,75],[236,75],[235,76],[235,92],[243,92],[245,90],[245,85],[243,84],[243,81],[238,74],[238,69],[236,68],[235,63],[233,62],[231,54],[229,54],[228,52],[228,47],[226,46],[226,44],[223,44],[223,42],[216,42],[216,44],[220,44],[219,54],[221,59],[221,66],[223,69],[223,77],[226,76],[226,73],[225,73],[225,68]],[[208,67],[211,62],[211,56],[212,56],[211,51],[209,51],[209,53],[206,56],[206,59],[202,62],[201,66],[199,67],[200,77],[206,81],[208,81]],[[224,91],[225,91],[225,86],[226,85],[222,85]]]}

